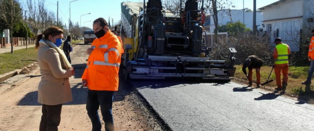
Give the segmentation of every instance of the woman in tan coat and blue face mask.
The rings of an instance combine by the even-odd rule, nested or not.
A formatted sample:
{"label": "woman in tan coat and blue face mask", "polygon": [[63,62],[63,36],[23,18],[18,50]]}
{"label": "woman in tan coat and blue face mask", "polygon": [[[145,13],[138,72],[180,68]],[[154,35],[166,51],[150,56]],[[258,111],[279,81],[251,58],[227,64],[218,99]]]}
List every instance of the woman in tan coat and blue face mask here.
{"label": "woman in tan coat and blue face mask", "polygon": [[49,27],[36,38],[37,60],[42,75],[38,85],[38,102],[42,104],[40,131],[57,131],[62,104],[72,101],[69,77],[74,70],[59,49],[62,38],[63,31],[58,27]]}

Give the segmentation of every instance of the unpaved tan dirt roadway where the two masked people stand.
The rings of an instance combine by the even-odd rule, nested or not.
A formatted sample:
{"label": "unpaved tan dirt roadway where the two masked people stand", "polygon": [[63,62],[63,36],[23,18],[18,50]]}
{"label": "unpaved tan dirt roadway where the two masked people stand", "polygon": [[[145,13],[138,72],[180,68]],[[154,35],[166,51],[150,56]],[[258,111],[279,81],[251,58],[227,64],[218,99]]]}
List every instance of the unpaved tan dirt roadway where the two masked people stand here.
{"label": "unpaved tan dirt roadway where the two masked people stand", "polygon": [[[88,45],[86,45],[88,46]],[[92,125],[86,112],[86,98],[88,88],[81,85],[81,76],[88,56],[85,46],[76,47],[73,53],[75,76],[70,78],[73,101],[62,106],[60,131],[91,130]],[[37,102],[37,88],[41,79],[37,71],[27,81],[18,85],[1,85],[0,99],[0,130],[5,131],[34,131],[39,129],[41,120],[41,104]],[[151,113],[145,102],[138,96],[129,84],[120,80],[119,90],[114,94],[113,118],[117,131],[158,131],[163,130],[160,120]],[[102,119],[101,113],[99,114]],[[102,121],[102,120],[101,120]],[[104,122],[102,121],[104,129]]]}

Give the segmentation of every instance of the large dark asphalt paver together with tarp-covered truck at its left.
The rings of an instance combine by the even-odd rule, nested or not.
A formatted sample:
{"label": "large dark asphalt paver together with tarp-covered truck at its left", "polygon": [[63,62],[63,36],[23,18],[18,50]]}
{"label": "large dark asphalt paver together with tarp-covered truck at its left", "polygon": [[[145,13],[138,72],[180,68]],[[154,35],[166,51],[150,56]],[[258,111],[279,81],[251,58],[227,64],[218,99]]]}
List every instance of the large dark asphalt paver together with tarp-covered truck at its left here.
{"label": "large dark asphalt paver together with tarp-covered truck at its left", "polygon": [[181,1],[181,11],[170,12],[162,7],[160,0],[122,2],[120,35],[125,53],[120,69],[124,77],[232,79],[236,50],[226,49],[230,53],[225,60],[211,59],[212,47],[206,43],[203,28],[203,3],[187,0],[182,8]]}

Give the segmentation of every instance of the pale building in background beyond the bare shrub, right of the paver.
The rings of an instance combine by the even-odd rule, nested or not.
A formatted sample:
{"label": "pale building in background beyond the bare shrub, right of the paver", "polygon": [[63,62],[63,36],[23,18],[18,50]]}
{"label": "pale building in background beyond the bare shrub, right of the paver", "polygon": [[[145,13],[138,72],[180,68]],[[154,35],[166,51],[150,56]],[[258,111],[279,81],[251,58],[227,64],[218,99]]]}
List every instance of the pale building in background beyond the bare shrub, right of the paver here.
{"label": "pale building in background beyond the bare shrub, right of the paver", "polygon": [[[241,9],[233,9],[228,12],[228,10],[219,10],[218,11],[218,25],[226,25],[231,22],[230,16],[231,14],[231,19],[232,22],[240,21],[243,22],[243,10]],[[256,25],[257,25],[257,30],[263,28],[263,12],[257,12],[256,13]],[[214,32],[215,29],[215,24],[214,24],[214,18],[210,17],[210,21],[205,23],[205,26],[209,24],[209,32]],[[246,25],[247,28],[250,28],[253,30],[253,12],[244,12],[244,24]],[[219,31],[219,30],[218,30]]]}

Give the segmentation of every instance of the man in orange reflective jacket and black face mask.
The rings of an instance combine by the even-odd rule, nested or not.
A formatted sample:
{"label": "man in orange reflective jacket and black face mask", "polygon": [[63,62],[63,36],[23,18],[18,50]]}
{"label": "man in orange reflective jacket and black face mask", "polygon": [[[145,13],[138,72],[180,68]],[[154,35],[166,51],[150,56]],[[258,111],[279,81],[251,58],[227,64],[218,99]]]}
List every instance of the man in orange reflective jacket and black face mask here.
{"label": "man in orange reflective jacket and black face mask", "polygon": [[94,21],[93,30],[97,39],[87,49],[89,58],[82,76],[82,85],[89,89],[86,110],[93,131],[101,130],[99,106],[106,131],[114,130],[112,101],[114,91],[118,90],[118,72],[123,49],[117,36],[107,26],[108,23],[103,18]]}

